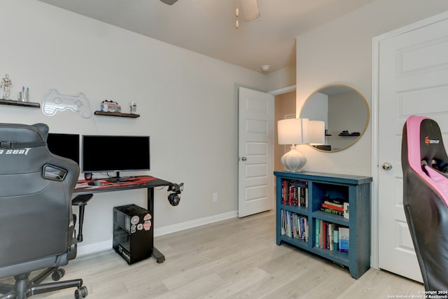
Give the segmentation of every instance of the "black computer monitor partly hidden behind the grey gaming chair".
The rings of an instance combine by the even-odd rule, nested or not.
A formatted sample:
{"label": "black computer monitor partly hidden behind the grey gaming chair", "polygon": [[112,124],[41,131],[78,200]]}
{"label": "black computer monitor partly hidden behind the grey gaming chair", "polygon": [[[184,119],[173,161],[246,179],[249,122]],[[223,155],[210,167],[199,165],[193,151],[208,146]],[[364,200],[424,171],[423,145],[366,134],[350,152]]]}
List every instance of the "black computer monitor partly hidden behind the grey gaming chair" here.
{"label": "black computer monitor partly hidden behind the grey gaming chair", "polygon": [[79,165],[79,134],[49,133],[48,150],[64,158],[69,158]]}

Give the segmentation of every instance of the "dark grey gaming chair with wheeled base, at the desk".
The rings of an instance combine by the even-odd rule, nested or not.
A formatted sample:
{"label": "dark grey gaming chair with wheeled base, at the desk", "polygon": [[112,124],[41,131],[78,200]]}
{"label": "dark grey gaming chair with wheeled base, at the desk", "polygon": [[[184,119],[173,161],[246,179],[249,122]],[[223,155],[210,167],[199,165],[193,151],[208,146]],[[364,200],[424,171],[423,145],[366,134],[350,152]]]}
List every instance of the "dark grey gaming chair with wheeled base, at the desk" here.
{"label": "dark grey gaming chair with wheeled base, at the desk", "polygon": [[0,279],[15,278],[15,285],[0,286],[0,298],[71,287],[75,298],[87,295],[82,279],[41,284],[50,274],[59,280],[58,267],[76,257],[71,195],[79,167],[48,151],[47,134],[44,124],[0,123]]}

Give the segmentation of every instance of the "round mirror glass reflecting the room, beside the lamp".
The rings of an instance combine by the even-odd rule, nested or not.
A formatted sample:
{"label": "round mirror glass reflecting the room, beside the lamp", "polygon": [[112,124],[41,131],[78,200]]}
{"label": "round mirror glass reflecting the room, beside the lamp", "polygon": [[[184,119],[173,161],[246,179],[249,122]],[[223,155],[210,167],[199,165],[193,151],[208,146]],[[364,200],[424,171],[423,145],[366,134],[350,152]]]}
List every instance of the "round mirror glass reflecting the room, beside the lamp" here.
{"label": "round mirror glass reflecting the room, beside the lamp", "polygon": [[325,144],[320,151],[342,151],[360,139],[369,123],[367,101],[357,90],[330,85],[314,92],[305,101],[300,118],[325,122]]}

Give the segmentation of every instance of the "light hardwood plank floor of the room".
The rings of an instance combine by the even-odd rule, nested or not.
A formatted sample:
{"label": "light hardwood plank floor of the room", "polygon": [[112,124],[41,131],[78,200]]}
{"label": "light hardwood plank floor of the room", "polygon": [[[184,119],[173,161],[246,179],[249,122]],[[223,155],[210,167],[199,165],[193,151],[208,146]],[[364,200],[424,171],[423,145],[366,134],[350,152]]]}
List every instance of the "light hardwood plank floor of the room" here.
{"label": "light hardwood plank floor of the room", "polygon": [[[274,211],[156,237],[155,246],[165,263],[149,258],[127,265],[111,249],[72,260],[63,279],[82,277],[90,299],[392,298],[424,290],[422,284],[372,268],[352,279],[344,267],[293,246],[277,246]],[[73,292],[31,298],[68,299]]]}

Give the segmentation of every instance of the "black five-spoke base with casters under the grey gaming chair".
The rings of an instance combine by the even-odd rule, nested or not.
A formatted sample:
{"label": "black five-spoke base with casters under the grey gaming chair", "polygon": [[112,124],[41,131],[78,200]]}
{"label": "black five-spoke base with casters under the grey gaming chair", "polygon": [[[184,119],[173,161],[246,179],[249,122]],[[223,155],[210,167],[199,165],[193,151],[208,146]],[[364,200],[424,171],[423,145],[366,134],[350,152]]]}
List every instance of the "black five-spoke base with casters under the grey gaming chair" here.
{"label": "black five-spoke base with casters under the grey gaming chair", "polygon": [[[48,293],[52,291],[62,290],[64,288],[76,288],[75,298],[87,297],[87,287],[83,286],[83,279],[72,279],[66,281],[58,281],[61,279],[65,271],[59,267],[50,267],[43,270],[33,279],[29,279],[31,272],[15,275],[15,284],[0,284],[0,299],[25,299],[31,295]],[[41,282],[51,274],[51,278],[55,282],[41,284]]]}

